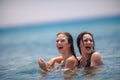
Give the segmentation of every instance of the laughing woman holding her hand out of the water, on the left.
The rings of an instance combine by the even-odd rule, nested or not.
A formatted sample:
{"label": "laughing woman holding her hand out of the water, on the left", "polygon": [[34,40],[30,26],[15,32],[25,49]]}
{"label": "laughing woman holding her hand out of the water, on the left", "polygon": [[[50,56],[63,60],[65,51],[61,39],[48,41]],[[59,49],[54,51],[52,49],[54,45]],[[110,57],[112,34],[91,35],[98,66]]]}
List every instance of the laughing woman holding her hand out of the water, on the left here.
{"label": "laughing woman holding her hand out of the water, on the left", "polygon": [[78,60],[74,51],[71,34],[68,32],[58,33],[56,37],[56,47],[61,56],[52,58],[48,63],[45,63],[44,60],[40,58],[38,60],[39,67],[43,71],[48,71],[51,67],[54,67],[55,63],[59,63],[60,67],[64,69],[75,69]]}

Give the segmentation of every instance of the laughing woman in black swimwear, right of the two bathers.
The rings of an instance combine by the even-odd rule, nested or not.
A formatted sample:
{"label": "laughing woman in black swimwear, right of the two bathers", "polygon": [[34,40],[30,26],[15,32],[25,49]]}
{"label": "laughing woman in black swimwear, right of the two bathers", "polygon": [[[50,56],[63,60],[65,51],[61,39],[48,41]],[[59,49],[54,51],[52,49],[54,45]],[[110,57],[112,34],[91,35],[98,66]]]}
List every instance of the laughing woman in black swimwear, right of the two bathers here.
{"label": "laughing woman in black swimwear, right of the two bathers", "polygon": [[81,32],[77,37],[77,47],[81,54],[78,67],[96,67],[103,63],[101,54],[95,51],[93,34]]}

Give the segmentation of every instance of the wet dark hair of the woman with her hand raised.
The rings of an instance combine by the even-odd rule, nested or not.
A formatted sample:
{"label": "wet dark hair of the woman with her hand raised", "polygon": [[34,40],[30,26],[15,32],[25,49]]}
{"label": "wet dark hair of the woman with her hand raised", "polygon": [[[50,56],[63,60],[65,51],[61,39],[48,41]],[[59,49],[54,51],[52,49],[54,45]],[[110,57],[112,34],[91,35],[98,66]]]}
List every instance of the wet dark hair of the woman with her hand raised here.
{"label": "wet dark hair of the woman with her hand raised", "polygon": [[[57,34],[57,36],[58,36],[59,34],[65,34],[65,35],[68,37],[68,43],[71,44],[70,50],[71,50],[71,52],[72,52],[72,55],[74,55],[74,56],[76,57],[76,53],[75,53],[74,45],[73,45],[73,38],[72,38],[71,34],[68,33],[68,32],[60,32],[60,33]],[[77,59],[77,57],[76,57],[76,59]]]}

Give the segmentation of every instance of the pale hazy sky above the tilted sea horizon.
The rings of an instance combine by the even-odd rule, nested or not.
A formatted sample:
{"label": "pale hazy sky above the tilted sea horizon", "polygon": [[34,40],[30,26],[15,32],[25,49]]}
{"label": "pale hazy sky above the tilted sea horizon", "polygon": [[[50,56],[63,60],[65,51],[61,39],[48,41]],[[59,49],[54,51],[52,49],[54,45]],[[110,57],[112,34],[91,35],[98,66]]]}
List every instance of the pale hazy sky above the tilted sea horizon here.
{"label": "pale hazy sky above the tilted sea horizon", "polygon": [[120,0],[0,0],[0,27],[120,14]]}

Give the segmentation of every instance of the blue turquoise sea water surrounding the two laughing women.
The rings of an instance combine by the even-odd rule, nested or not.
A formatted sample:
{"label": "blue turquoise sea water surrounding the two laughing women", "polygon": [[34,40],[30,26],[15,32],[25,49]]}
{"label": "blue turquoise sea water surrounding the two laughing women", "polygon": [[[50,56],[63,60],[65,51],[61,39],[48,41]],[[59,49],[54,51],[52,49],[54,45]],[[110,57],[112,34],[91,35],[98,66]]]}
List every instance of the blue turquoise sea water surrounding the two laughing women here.
{"label": "blue turquoise sea water surrounding the two laughing women", "polygon": [[[120,17],[19,26],[0,29],[0,80],[120,80]],[[72,34],[78,57],[77,35],[82,31],[93,33],[95,49],[104,64],[76,74],[62,70],[42,73],[37,60],[42,57],[48,61],[60,55],[55,39],[61,31]]]}

